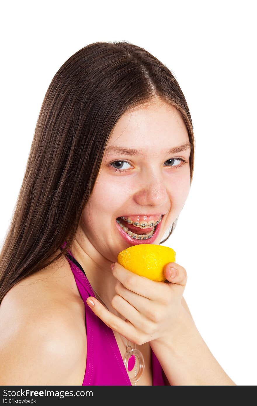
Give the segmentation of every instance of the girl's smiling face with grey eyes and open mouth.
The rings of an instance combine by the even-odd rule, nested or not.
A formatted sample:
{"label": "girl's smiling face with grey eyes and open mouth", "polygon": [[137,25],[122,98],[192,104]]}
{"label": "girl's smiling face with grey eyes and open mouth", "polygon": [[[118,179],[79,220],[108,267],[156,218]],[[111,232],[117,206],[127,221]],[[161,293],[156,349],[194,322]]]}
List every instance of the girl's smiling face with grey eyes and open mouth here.
{"label": "girl's smiling face with grey eyes and open mouth", "polygon": [[[129,236],[126,240],[119,231],[116,219],[122,216],[151,223],[163,214],[157,238],[140,243],[162,241],[190,190],[190,145],[186,144],[189,138],[184,121],[175,108],[163,102],[129,110],[119,119],[82,214],[80,232],[86,252],[116,262],[120,251],[138,242]],[[171,151],[182,145],[186,146],[180,151]],[[139,216],[137,220],[133,215]],[[153,217],[147,217],[150,215]],[[140,231],[147,234],[149,229]]]}

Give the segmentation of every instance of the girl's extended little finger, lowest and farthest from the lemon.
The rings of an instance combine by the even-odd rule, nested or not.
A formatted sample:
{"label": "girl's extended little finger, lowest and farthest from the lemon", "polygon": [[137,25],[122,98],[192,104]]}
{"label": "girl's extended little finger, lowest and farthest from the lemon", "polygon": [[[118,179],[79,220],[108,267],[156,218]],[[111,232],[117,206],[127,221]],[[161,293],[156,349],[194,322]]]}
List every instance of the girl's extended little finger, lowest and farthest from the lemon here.
{"label": "girl's extended little finger, lowest and farthest from the lemon", "polygon": [[[91,302],[93,302],[93,306]],[[95,313],[95,315],[99,317],[104,322],[104,324],[106,324],[106,326],[112,328],[112,330],[117,331],[117,333],[123,335],[123,337],[134,343],[138,341],[138,332],[130,321],[122,320],[120,317],[111,313],[104,307],[102,303],[99,302],[99,300],[93,298],[92,296],[86,299],[86,303]]]}

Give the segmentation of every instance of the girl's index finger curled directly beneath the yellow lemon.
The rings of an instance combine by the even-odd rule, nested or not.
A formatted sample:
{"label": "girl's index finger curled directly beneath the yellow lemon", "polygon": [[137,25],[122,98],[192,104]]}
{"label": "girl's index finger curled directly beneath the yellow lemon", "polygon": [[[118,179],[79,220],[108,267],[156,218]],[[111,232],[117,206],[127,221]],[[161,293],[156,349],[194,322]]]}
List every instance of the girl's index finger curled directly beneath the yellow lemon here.
{"label": "girl's index finger curled directly beneath the yellow lemon", "polygon": [[163,282],[152,281],[145,276],[134,274],[134,272],[127,270],[118,262],[114,263],[112,274],[123,286],[140,296],[150,300],[157,300],[162,296]]}

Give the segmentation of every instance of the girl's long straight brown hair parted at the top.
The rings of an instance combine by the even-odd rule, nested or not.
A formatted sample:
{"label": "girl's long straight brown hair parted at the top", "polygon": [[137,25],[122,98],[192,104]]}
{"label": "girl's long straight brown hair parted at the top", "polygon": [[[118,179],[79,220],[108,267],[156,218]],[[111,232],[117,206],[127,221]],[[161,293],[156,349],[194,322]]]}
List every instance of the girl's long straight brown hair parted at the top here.
{"label": "girl's long straight brown hair parted at the top", "polygon": [[[127,41],[96,42],[60,67],[41,106],[0,254],[0,303],[17,282],[71,248],[114,125],[126,110],[156,97],[174,106],[187,127],[192,182],[192,119],[177,80],[160,60]],[[64,241],[63,251],[47,262]]]}

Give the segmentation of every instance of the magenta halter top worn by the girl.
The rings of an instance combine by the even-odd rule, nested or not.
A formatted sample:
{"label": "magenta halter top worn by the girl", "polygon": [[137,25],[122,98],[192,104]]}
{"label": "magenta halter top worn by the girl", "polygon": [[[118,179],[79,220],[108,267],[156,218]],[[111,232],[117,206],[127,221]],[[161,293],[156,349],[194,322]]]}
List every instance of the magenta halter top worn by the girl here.
{"label": "magenta halter top worn by the girl", "polygon": [[[66,242],[61,246],[63,249]],[[80,296],[85,304],[86,320],[86,370],[82,385],[131,385],[117,341],[110,327],[95,315],[86,303],[89,296],[95,297],[86,274],[71,251],[67,251]],[[162,366],[151,349],[153,385],[165,385]]]}

